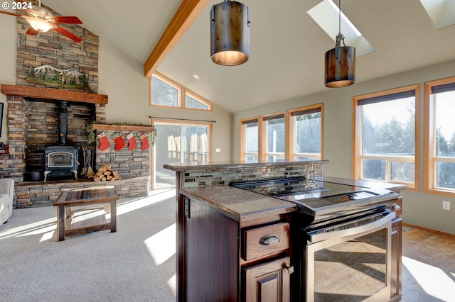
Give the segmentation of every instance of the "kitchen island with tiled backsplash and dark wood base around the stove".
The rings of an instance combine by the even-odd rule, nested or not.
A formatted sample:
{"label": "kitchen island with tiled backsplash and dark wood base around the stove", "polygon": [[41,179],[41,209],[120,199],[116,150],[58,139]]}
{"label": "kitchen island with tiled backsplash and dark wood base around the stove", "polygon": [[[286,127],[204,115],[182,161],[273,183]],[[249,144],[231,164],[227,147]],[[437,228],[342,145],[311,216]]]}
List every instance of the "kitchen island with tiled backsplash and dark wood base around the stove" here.
{"label": "kitchen island with tiled backsplash and dark wood base around the stove", "polygon": [[[327,162],[166,164],[166,169],[176,172],[178,187],[177,300],[257,301],[267,296],[274,297],[273,301],[290,301],[291,274],[297,258],[292,247],[296,204],[230,184],[306,177],[351,186],[373,185],[369,181],[323,177],[323,164]],[[404,188],[374,184],[394,191]],[[395,229],[398,225],[401,223],[395,223]],[[394,238],[397,244],[401,242],[397,236]],[[396,250],[399,248],[397,245]],[[394,267],[401,267],[397,257],[394,261]],[[401,272],[395,275],[398,273],[401,276]],[[398,301],[400,279],[394,280],[392,287]]]}

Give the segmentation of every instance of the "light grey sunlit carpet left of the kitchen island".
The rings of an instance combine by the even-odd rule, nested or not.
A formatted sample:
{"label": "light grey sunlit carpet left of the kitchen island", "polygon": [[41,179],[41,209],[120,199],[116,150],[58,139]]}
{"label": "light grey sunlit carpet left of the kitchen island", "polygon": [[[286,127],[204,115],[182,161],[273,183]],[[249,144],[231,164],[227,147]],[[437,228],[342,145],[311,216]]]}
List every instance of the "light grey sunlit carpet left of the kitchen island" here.
{"label": "light grey sunlit carpet left of the kitchen island", "polygon": [[56,208],[0,225],[0,301],[175,301],[175,190],[121,199],[117,233],[58,242]]}

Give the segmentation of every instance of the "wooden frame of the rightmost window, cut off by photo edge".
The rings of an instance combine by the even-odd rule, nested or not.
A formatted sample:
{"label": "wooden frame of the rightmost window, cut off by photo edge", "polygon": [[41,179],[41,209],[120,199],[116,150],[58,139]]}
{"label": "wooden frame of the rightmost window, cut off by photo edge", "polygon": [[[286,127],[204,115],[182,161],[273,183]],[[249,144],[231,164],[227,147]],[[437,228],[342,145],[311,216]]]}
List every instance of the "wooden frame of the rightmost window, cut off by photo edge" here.
{"label": "wooden frame of the rightmost window, cut off by photo edge", "polygon": [[[443,196],[455,196],[455,189],[441,189],[436,187],[436,162],[455,162],[455,158],[440,157],[437,159],[436,149],[436,127],[434,125],[434,99],[432,89],[434,86],[445,84],[455,84],[455,77],[437,79],[424,83],[424,193],[437,194]],[[455,91],[455,90],[454,90]]]}

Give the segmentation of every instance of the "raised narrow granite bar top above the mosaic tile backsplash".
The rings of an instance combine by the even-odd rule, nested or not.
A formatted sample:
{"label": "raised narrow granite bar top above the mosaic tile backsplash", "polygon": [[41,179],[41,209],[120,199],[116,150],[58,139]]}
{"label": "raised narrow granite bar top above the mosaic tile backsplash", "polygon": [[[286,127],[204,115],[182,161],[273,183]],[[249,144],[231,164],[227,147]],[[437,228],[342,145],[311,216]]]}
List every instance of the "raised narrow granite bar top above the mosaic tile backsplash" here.
{"label": "raised narrow granite bar top above the mosaic tile backsplash", "polygon": [[267,166],[299,166],[301,164],[327,164],[328,160],[299,160],[289,162],[191,162],[191,163],[174,163],[164,164],[164,169],[172,171],[188,171],[188,170],[216,170],[216,169],[237,169],[245,167],[267,167]]}

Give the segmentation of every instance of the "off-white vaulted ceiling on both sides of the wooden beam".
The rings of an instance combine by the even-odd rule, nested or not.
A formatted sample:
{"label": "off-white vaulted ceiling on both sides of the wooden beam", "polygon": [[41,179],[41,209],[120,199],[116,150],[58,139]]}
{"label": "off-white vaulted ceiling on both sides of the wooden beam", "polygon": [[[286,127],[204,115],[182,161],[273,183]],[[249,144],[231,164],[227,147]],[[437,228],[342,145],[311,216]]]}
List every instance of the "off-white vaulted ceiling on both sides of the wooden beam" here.
{"label": "off-white vaulted ceiling on both sides of the wooden beam", "polygon": [[[221,1],[210,0],[158,72],[230,112],[328,90],[323,57],[335,43],[306,13],[321,0],[242,0],[250,9],[250,60],[235,67],[210,60],[210,8]],[[79,17],[83,27],[144,64],[182,1],[42,3]],[[375,49],[357,58],[358,83],[455,59],[455,26],[437,30],[419,0],[343,0],[341,8]]]}

